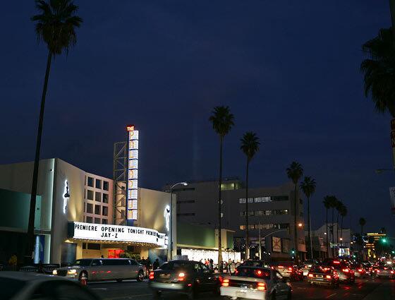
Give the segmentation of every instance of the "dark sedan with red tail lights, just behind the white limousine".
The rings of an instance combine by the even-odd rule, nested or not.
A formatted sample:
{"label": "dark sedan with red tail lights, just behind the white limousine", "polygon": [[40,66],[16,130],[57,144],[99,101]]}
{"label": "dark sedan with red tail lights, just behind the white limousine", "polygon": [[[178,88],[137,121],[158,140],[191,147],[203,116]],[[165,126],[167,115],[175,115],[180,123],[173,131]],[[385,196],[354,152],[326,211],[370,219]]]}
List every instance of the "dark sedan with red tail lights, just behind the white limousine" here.
{"label": "dark sedan with red tail lights, just behind the white limousine", "polygon": [[194,299],[199,292],[219,295],[221,277],[206,265],[193,260],[170,260],[159,269],[150,272],[148,286],[154,298],[162,292],[187,294]]}

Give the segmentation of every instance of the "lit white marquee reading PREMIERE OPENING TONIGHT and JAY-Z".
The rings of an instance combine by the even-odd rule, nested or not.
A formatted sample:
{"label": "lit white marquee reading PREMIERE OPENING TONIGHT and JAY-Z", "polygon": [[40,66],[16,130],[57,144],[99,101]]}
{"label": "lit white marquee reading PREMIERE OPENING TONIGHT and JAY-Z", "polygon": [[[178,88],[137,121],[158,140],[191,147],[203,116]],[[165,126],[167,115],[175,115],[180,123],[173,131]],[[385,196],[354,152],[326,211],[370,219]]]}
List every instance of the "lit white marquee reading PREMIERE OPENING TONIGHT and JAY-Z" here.
{"label": "lit white marquee reading PREMIERE OPENING TONIGHT and JAY-Z", "polygon": [[166,235],[154,229],[83,222],[70,222],[68,226],[68,237],[72,239],[123,241],[155,244],[159,247],[166,246]]}

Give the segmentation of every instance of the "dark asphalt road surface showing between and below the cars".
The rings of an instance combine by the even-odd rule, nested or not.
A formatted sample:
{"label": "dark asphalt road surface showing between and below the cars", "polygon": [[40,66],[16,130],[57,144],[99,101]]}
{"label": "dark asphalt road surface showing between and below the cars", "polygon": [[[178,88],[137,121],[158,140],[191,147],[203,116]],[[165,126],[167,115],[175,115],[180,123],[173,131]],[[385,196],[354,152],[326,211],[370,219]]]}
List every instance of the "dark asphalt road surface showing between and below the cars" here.
{"label": "dark asphalt road surface showing between and below the cars", "polygon": [[[95,282],[88,284],[93,292],[102,300],[142,300],[152,299],[152,293],[147,282],[128,280],[125,282]],[[307,282],[292,282],[293,300],[299,299],[346,299],[346,300],[386,300],[395,299],[395,280],[384,279],[357,279],[356,284],[341,284],[339,289],[327,287],[310,287]],[[163,294],[164,300],[188,299],[184,295]],[[210,293],[202,293],[197,296],[201,300],[220,300],[221,297]]]}

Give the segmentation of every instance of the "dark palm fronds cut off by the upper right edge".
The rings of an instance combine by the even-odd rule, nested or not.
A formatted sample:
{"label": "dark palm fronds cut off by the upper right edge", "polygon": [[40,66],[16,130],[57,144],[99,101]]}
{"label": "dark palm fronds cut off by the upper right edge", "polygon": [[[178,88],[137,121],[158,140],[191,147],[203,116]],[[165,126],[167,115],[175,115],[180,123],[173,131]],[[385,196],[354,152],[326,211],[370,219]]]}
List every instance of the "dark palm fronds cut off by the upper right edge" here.
{"label": "dark palm fronds cut off by the upper right edge", "polygon": [[362,46],[368,58],[360,64],[365,96],[372,95],[378,112],[395,117],[395,47],[391,28],[380,29],[377,37]]}

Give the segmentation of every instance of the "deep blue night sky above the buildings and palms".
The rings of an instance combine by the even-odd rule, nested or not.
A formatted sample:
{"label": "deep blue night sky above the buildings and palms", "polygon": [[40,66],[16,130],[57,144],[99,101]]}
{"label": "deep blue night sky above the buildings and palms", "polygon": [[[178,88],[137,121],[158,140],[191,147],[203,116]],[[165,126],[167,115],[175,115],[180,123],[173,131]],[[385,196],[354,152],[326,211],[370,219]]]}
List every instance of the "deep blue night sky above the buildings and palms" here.
{"label": "deep blue night sky above the buildings and palms", "polygon": [[[216,105],[235,115],[224,175],[245,176],[240,138],[255,131],[252,186],[288,181],[298,160],[322,198],[348,206],[346,225],[395,234],[389,186],[389,116],[363,95],[361,44],[390,26],[388,1],[77,1],[83,26],[52,64],[42,157],[112,177],[113,143],[140,130],[140,186],[212,179]],[[33,1],[2,4],[0,163],[34,159],[47,48],[38,44]],[[214,199],[213,199],[214,200]]]}

